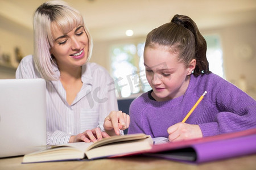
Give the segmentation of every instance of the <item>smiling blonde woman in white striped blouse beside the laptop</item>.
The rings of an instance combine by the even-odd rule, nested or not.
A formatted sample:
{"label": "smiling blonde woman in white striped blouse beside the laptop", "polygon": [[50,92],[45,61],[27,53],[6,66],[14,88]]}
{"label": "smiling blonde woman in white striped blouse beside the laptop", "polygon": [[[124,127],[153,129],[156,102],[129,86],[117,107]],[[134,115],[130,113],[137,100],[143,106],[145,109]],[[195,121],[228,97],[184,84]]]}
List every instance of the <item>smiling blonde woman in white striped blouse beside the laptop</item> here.
{"label": "smiling blonde woman in white striped blouse beside the laptop", "polygon": [[34,14],[34,55],[24,57],[16,78],[43,78],[47,88],[47,144],[90,142],[119,135],[129,116],[117,111],[113,79],[89,63],[92,39],[82,15],[62,1]]}

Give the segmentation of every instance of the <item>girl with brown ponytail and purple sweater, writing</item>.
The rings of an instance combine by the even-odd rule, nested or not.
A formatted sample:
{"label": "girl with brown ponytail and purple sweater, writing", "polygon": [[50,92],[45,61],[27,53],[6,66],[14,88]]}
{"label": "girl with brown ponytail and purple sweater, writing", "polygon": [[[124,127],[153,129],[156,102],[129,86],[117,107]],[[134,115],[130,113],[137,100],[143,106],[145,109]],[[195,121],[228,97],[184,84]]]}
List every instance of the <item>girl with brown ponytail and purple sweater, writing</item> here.
{"label": "girl with brown ponytail and purple sweater, writing", "polygon": [[180,141],[256,126],[256,101],[211,73],[206,51],[204,37],[188,16],[175,15],[148,33],[144,66],[152,90],[131,103],[128,133]]}

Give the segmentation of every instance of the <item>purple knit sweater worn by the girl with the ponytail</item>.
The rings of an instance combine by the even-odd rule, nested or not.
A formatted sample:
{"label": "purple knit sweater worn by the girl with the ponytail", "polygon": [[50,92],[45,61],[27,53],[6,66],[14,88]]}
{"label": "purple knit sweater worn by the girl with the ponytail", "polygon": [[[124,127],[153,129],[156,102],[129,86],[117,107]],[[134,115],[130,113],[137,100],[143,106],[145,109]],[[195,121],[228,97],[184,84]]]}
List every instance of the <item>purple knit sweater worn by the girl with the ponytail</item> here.
{"label": "purple knit sweater worn by the girl with the ponytail", "polygon": [[168,137],[167,129],[181,122],[199,97],[204,99],[186,121],[200,126],[204,137],[256,128],[256,101],[220,76],[193,76],[183,96],[168,101],[154,101],[148,92],[130,105],[128,133]]}

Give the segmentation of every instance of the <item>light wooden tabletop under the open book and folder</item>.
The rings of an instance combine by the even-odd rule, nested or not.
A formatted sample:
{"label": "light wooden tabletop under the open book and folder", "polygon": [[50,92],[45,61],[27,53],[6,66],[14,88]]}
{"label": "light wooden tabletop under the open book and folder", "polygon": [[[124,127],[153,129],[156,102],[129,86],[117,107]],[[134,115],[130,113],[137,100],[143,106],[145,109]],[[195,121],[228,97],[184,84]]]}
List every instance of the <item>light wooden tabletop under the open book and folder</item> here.
{"label": "light wooden tabletop under the open book and folder", "polygon": [[115,158],[115,159],[98,159],[98,160],[82,160],[82,161],[68,161],[68,162],[48,162],[48,163],[32,163],[22,164],[22,156],[14,158],[0,159],[0,169],[206,169],[206,170],[256,170],[256,154],[250,156],[242,156],[240,158],[232,158],[220,160],[217,162],[209,162],[203,164],[185,164],[174,162],[171,160],[146,158],[146,157],[129,157],[129,158]]}

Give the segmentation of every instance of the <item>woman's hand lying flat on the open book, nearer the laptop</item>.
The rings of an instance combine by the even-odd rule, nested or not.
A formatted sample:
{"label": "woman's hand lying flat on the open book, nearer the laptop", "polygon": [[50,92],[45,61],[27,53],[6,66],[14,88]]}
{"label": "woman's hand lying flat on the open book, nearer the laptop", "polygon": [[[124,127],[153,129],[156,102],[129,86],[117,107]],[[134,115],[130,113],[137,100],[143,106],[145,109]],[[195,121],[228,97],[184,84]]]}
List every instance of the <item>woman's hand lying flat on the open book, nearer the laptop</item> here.
{"label": "woman's hand lying flat on the open book, nearer the laptop", "polygon": [[73,142],[97,142],[102,138],[108,138],[109,135],[105,131],[101,131],[100,128],[94,128],[92,130],[86,130],[83,133],[71,136],[69,143]]}

